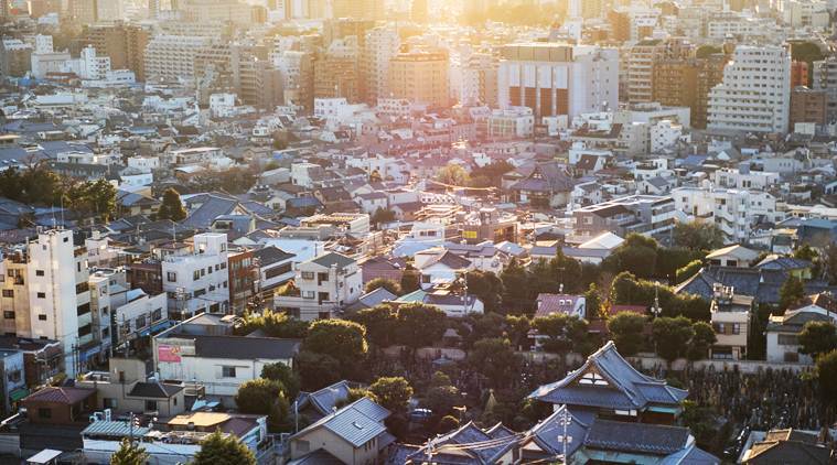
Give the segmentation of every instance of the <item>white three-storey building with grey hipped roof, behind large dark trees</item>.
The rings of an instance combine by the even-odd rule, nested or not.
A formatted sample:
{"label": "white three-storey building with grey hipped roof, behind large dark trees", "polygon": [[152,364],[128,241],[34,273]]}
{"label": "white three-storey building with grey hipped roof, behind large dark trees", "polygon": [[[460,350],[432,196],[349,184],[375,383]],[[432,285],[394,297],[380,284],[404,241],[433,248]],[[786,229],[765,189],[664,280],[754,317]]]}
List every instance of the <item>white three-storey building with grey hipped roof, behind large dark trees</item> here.
{"label": "white three-storey building with grey hipped roof, behind large dark trees", "polygon": [[277,310],[303,320],[331,318],[363,294],[357,262],[337,252],[328,252],[296,267],[293,295],[273,298]]}

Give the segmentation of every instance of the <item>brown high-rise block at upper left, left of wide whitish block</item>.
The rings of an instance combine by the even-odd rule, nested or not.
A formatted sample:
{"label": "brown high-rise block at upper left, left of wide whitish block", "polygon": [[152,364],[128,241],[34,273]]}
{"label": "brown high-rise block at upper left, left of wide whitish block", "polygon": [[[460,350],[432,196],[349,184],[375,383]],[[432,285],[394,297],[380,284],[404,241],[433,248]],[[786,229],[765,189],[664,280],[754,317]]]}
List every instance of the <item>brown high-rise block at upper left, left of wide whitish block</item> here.
{"label": "brown high-rise block at upper left, left of wide whitish block", "polygon": [[146,80],[146,47],[151,32],[137,24],[117,23],[90,25],[82,33],[85,45],[93,45],[100,54],[110,57],[112,69],[130,69],[137,80]]}

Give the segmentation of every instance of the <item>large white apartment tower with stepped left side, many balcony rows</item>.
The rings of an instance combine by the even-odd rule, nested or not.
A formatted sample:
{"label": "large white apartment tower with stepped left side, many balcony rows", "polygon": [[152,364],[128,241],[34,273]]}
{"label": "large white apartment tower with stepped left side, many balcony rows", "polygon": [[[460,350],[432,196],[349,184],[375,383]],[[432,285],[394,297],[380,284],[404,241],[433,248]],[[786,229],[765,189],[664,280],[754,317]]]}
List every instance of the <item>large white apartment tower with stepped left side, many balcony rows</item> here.
{"label": "large white apartment tower with stepped left side, many balcony rows", "polygon": [[723,80],[709,91],[707,128],[787,132],[791,53],[781,46],[736,47]]}

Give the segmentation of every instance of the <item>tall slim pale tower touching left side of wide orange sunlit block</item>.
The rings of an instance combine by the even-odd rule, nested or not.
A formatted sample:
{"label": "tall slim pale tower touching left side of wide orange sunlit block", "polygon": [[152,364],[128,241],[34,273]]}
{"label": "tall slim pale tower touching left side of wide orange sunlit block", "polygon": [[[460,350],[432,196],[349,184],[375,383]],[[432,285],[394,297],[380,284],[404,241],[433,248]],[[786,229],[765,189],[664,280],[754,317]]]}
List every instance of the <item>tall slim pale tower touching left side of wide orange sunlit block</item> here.
{"label": "tall slim pale tower touching left side of wide orange sunlit block", "polygon": [[389,61],[398,54],[401,39],[393,28],[375,28],[366,32],[361,53],[361,98],[377,104],[389,96]]}

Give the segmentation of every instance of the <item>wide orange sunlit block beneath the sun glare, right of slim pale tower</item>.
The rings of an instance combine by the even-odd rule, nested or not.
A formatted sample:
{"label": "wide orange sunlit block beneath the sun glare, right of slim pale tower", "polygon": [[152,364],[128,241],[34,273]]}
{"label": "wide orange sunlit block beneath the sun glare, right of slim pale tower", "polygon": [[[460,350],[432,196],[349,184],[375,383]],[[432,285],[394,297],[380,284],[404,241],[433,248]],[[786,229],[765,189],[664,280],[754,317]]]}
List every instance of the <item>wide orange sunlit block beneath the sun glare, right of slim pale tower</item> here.
{"label": "wide orange sunlit block beneath the sun glare, right of slim pale tower", "polygon": [[450,104],[448,54],[414,50],[389,61],[389,93],[394,98],[431,107]]}

